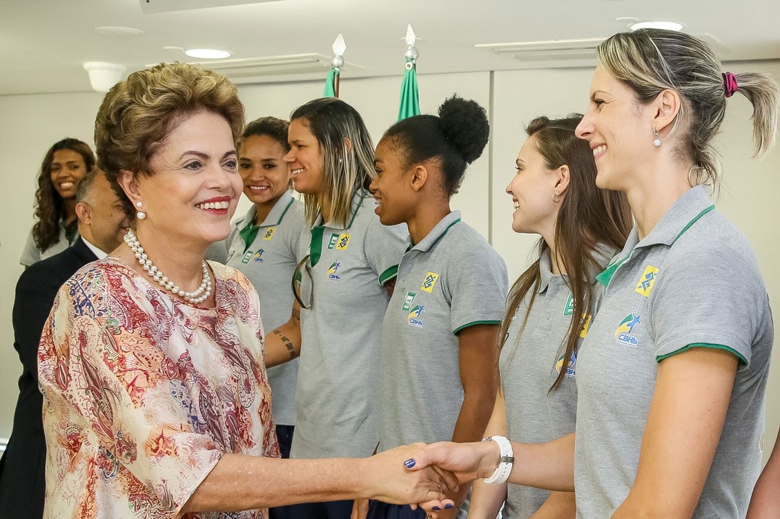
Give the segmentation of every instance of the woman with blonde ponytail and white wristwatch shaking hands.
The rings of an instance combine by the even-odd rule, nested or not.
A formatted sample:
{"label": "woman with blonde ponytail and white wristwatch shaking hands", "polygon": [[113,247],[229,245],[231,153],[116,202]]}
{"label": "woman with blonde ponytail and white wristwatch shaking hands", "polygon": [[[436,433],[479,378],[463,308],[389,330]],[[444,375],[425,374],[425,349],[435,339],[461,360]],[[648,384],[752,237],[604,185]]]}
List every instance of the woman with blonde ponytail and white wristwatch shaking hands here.
{"label": "woman with blonde ponytail and white wristwatch shaking hands", "polygon": [[[729,97],[753,104],[762,157],[780,89],[762,73],[724,71],[703,41],[668,30],[615,34],[597,55],[576,132],[593,150],[596,184],[624,192],[636,224],[597,276],[605,293],[577,358],[575,433],[512,444],[508,480],[576,482],[582,519],[745,517],[774,330],[753,249],[706,184],[717,183],[712,141]],[[427,447],[415,469],[488,477],[499,461],[491,443]],[[501,456],[503,474],[504,447]]]}

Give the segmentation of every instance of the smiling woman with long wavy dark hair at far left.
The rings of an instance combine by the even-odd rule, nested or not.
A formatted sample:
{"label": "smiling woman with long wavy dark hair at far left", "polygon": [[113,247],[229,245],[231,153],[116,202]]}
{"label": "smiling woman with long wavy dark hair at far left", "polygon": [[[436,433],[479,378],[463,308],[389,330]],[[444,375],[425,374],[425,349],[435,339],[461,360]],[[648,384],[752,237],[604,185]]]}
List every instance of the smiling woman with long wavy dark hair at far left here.
{"label": "smiling woman with long wavy dark hair at far left", "polygon": [[20,259],[25,267],[62,252],[76,239],[76,189],[94,166],[92,150],[79,139],[62,139],[46,152],[35,192],[37,222]]}

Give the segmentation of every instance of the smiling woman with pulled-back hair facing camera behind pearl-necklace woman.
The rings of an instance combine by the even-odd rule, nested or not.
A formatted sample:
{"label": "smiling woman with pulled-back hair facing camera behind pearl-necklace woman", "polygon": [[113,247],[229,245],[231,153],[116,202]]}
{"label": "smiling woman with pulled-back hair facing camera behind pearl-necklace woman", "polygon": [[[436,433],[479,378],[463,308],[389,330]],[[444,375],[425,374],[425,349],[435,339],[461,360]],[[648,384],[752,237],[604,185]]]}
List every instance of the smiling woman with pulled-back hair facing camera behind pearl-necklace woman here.
{"label": "smiling woman with pulled-back hair facing camera behind pearl-necklace woman", "polygon": [[[250,122],[238,142],[239,174],[243,194],[252,202],[246,215],[233,224],[222,245],[220,260],[242,272],[260,295],[263,327],[273,330],[289,320],[293,311],[293,277],[300,237],[308,231],[303,204],[289,189],[289,122],[263,117]],[[209,252],[211,252],[210,249]],[[213,256],[213,255],[211,255]],[[282,457],[289,457],[295,430],[295,390],[298,360],[268,368],[273,394],[271,415]],[[271,508],[270,517],[286,517],[286,507]]]}

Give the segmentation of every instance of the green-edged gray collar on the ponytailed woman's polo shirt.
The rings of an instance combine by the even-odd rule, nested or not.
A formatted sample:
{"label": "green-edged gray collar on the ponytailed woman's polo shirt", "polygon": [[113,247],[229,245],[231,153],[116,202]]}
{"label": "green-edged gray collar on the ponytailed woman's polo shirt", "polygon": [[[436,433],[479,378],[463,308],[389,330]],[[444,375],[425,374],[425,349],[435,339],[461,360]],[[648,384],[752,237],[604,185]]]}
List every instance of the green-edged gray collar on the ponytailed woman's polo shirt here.
{"label": "green-edged gray collar on the ponytailed woman's polo shirt", "polygon": [[[623,252],[615,256],[613,263],[604,272],[596,276],[597,281],[607,287],[609,282],[612,281],[615,271],[623,263],[626,263],[626,260],[632,256],[634,250],[652,245],[668,245],[671,247],[693,224],[714,208],[715,206],[711,202],[710,196],[707,195],[707,189],[704,185],[697,185],[684,192],[682,196],[675,200],[672,207],[669,207],[664,216],[661,217],[661,221],[655,225],[650,234],[645,236],[643,240],[640,241],[639,231],[636,225],[634,225]],[[621,256],[622,258],[617,260]]]}

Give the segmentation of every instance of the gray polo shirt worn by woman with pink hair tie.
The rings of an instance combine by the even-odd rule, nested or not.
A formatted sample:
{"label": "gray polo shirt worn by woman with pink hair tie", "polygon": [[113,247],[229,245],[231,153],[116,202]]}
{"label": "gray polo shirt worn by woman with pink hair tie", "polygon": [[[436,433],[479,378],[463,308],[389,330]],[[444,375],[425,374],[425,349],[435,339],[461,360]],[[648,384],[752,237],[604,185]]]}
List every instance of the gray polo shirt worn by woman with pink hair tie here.
{"label": "gray polo shirt worn by woman with pink hair tie", "polygon": [[634,228],[597,279],[607,289],[577,358],[578,517],[610,517],[626,499],[658,362],[692,347],[720,348],[739,358],[725,425],[693,519],[745,517],[761,470],[764,390],[774,337],[750,243],[698,186],[680,196],[643,240]]}

